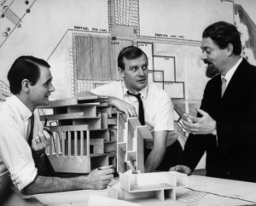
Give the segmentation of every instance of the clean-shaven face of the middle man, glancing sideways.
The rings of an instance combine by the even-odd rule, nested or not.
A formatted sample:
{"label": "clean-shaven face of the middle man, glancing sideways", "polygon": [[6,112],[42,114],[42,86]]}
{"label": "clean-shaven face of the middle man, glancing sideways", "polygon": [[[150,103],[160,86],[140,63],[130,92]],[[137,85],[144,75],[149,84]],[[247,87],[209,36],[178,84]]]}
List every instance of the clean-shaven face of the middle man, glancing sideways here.
{"label": "clean-shaven face of the middle man, glancing sideways", "polygon": [[124,78],[125,86],[131,92],[145,88],[148,84],[148,59],[142,54],[137,59],[124,59],[125,70],[120,70],[121,76]]}

